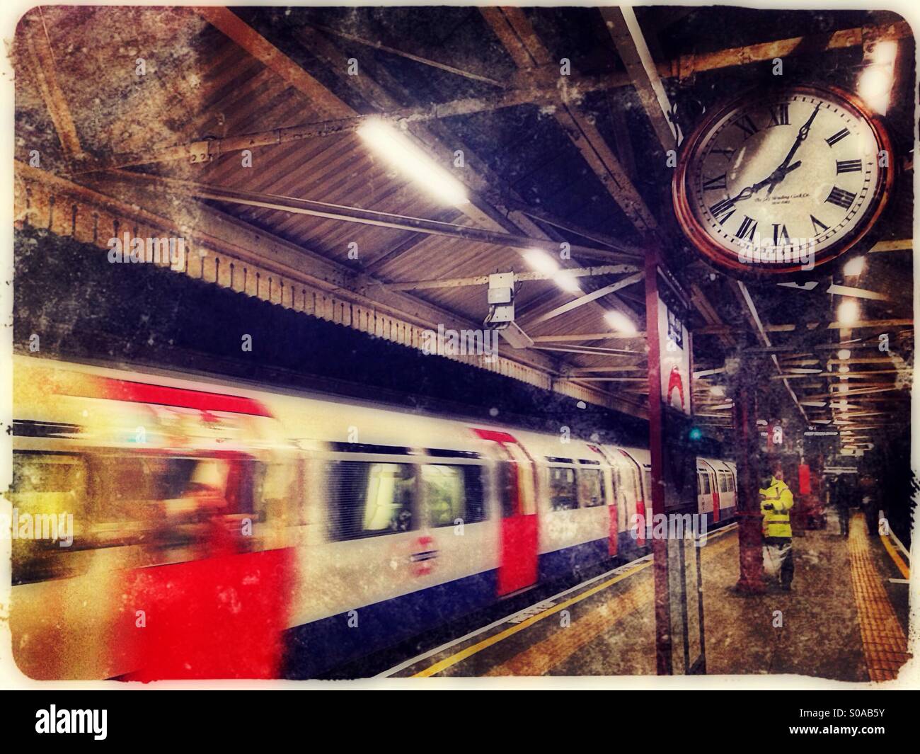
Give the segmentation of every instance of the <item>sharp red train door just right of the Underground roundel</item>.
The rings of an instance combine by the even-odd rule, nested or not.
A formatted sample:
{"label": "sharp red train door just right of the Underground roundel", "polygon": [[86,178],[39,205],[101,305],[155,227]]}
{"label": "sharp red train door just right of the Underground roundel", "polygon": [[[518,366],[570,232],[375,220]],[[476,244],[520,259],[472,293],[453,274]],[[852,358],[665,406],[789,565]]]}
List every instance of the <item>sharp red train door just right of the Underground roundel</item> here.
{"label": "sharp red train door just right of the Underground roundel", "polygon": [[534,466],[517,440],[506,432],[474,430],[496,444],[501,505],[499,596],[536,584],[538,531]]}

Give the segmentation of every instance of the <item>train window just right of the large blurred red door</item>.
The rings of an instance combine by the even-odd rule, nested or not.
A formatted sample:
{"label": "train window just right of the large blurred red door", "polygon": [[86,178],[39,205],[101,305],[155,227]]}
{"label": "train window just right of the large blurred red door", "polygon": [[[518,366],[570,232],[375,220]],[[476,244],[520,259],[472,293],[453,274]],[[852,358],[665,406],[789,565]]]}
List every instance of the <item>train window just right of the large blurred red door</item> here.
{"label": "train window just right of the large blurred red door", "polygon": [[332,539],[362,539],[413,528],[415,467],[408,463],[331,461]]}

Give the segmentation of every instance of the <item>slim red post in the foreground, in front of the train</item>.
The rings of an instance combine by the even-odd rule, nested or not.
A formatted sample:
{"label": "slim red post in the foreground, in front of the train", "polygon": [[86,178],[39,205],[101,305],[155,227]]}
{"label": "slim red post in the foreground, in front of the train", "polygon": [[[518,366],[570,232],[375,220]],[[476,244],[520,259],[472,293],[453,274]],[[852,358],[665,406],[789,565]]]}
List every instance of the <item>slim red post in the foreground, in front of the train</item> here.
{"label": "slim red post in the foreground, in front of the train", "polygon": [[[649,344],[649,452],[651,512],[664,513],[664,458],[661,431],[661,349],[658,332],[658,249],[645,256],[645,331]],[[670,676],[671,598],[668,588],[668,541],[652,538],[655,577],[655,659],[658,675]]]}

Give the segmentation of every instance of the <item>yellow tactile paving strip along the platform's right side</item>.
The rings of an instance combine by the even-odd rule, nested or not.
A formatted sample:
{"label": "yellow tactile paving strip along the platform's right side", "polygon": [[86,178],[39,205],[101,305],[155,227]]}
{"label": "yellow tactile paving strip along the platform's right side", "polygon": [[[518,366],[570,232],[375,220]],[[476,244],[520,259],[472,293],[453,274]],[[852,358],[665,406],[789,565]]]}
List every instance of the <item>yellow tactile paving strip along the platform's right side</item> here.
{"label": "yellow tactile paving strip along the platform's right side", "polygon": [[861,513],[853,516],[847,544],[868,677],[878,681],[897,678],[910,658],[907,639],[872,563],[866,517]]}

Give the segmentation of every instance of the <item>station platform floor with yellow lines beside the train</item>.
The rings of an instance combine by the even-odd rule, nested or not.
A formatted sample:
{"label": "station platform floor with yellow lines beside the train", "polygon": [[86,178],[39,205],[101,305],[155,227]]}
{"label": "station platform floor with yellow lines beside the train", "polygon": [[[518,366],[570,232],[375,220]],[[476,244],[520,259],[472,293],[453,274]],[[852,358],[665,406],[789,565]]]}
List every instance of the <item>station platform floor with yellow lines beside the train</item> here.
{"label": "station platform floor with yellow lines beside the train", "polygon": [[[848,538],[827,528],[793,539],[795,578],[784,592],[741,596],[736,525],[700,548],[706,672],[893,679],[907,655],[907,558],[869,537],[855,513]],[[652,561],[597,576],[507,619],[407,660],[390,677],[651,675]],[[781,626],[777,612],[781,612]]]}

